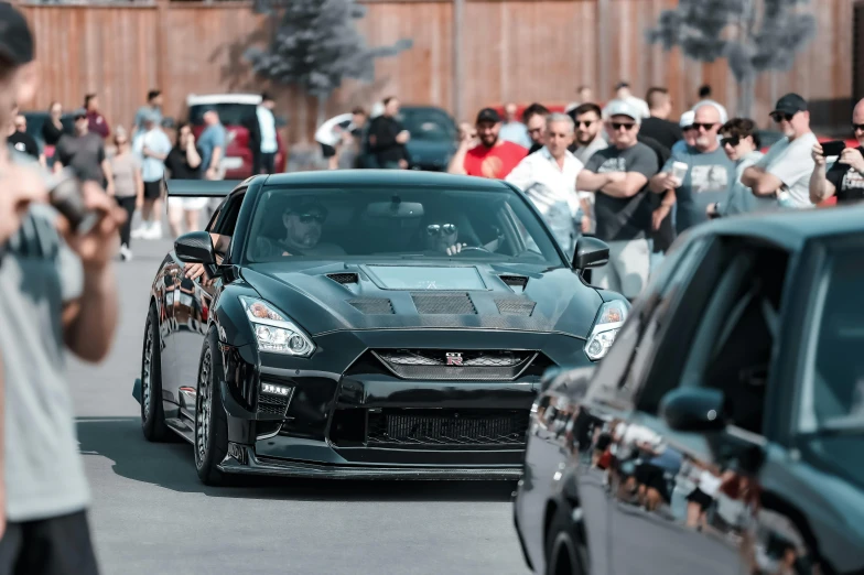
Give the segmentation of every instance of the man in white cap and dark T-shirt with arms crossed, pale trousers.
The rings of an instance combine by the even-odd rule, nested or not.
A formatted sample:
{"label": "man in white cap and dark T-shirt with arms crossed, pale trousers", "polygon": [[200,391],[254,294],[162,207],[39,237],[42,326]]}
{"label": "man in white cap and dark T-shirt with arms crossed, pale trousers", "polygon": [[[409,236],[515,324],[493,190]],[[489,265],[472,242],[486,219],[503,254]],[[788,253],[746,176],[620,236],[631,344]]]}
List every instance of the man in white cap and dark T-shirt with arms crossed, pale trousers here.
{"label": "man in white cap and dark T-shirt with arms crossed, pale trousers", "polygon": [[595,194],[596,236],[609,245],[609,262],[593,271],[593,283],[633,300],[650,273],[647,189],[659,162],[655,151],[638,141],[641,110],[612,100],[605,112],[611,145],[591,156],[576,177],[576,188]]}

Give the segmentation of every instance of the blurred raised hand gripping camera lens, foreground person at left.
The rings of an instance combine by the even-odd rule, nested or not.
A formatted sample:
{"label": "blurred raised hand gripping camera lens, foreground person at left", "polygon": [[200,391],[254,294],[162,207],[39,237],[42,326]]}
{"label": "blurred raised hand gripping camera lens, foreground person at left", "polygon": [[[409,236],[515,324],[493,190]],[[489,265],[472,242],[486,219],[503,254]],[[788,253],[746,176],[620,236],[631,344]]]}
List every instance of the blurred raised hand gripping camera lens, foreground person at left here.
{"label": "blurred raised hand gripping camera lens, foreground person at left", "polygon": [[120,226],[126,221],[126,211],[119,207],[94,182],[82,184],[84,205],[89,211],[99,215],[98,221],[85,235],[78,235],[69,227],[66,218],[57,218],[57,228],[66,238],[66,243],[80,258],[85,269],[100,270],[115,257],[119,246]]}

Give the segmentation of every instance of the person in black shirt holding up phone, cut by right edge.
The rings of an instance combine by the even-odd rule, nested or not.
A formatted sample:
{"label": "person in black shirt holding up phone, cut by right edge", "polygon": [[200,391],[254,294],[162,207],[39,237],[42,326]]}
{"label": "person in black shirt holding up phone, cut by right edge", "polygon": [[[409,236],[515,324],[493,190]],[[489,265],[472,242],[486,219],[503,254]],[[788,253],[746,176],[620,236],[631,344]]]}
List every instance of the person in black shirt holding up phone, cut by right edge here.
{"label": "person in black shirt holding up phone, cut by right edge", "polygon": [[[810,175],[810,202],[819,204],[836,196],[838,205],[864,199],[864,99],[852,110],[852,130],[857,148],[846,148],[842,141],[813,144],[816,166]],[[828,158],[838,156],[828,170]]]}

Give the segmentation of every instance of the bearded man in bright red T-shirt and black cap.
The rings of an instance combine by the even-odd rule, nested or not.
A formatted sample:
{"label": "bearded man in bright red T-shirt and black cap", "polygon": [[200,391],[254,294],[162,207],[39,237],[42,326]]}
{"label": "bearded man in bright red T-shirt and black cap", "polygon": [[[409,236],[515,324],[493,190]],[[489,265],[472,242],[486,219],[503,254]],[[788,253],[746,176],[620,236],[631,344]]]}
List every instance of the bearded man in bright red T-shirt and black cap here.
{"label": "bearded man in bright red T-shirt and black cap", "polygon": [[528,155],[528,150],[498,139],[501,118],[492,108],[480,110],[476,127],[479,142],[464,138],[450,161],[447,172],[504,180]]}

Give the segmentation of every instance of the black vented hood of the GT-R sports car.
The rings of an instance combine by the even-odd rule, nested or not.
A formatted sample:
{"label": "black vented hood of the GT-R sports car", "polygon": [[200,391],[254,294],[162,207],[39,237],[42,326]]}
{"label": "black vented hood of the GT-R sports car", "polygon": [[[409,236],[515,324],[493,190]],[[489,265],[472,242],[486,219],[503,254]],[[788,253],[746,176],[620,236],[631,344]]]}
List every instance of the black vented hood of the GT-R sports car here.
{"label": "black vented hood of the GT-R sports car", "polygon": [[244,279],[310,335],[352,329],[512,329],[587,337],[603,299],[565,268],[253,263]]}

